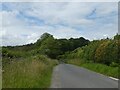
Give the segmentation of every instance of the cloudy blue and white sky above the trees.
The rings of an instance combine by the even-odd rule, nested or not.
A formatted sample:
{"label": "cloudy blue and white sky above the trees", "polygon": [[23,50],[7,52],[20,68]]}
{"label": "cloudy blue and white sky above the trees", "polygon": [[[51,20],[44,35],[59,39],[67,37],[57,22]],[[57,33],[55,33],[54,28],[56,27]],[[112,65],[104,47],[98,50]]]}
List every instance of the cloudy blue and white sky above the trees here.
{"label": "cloudy blue and white sky above the trees", "polygon": [[34,43],[47,32],[55,38],[112,38],[118,32],[117,2],[2,2],[2,46]]}

